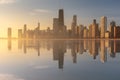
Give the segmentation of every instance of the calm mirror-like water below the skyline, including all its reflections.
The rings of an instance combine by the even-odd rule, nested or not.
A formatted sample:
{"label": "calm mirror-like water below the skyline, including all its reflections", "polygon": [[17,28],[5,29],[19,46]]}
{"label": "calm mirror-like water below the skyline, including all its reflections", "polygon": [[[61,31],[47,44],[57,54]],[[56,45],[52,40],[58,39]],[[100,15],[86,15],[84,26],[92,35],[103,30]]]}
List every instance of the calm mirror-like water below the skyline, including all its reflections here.
{"label": "calm mirror-like water below the skyline, including all its reflections", "polygon": [[120,41],[0,40],[0,80],[119,80]]}

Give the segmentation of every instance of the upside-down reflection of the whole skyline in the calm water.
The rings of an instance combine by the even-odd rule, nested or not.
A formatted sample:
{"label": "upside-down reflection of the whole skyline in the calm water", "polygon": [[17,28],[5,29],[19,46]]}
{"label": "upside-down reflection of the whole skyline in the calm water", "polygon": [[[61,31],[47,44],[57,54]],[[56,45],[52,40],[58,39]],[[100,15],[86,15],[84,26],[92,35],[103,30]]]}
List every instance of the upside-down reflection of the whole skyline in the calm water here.
{"label": "upside-down reflection of the whole skyline in the calm water", "polygon": [[[12,41],[8,40],[8,50],[12,49]],[[63,69],[64,55],[69,49],[73,63],[77,63],[77,55],[84,52],[96,59],[100,55],[102,63],[107,62],[107,55],[115,58],[120,52],[120,42],[116,40],[18,40],[18,49],[26,54],[29,48],[35,49],[40,56],[40,48],[53,50],[53,60],[58,61],[58,68]],[[98,56],[99,57],[99,56]]]}

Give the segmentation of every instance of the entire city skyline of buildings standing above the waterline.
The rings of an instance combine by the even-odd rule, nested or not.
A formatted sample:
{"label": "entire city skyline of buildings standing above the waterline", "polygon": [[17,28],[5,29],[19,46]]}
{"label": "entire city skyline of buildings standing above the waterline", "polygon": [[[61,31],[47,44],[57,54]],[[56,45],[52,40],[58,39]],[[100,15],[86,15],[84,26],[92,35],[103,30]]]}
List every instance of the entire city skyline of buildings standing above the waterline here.
{"label": "entire city skyline of buildings standing above the waterline", "polygon": [[[40,23],[34,30],[24,29],[18,30],[19,39],[39,39],[39,38],[78,38],[78,39],[99,39],[99,38],[120,38],[120,26],[117,26],[115,21],[110,22],[108,27],[107,17],[103,16],[100,19],[100,24],[96,19],[89,26],[78,25],[77,15],[73,16],[71,29],[67,29],[64,24],[64,10],[59,9],[58,18],[53,18],[53,29],[48,27],[46,30],[40,30]],[[8,38],[11,38],[12,30],[8,28]]]}

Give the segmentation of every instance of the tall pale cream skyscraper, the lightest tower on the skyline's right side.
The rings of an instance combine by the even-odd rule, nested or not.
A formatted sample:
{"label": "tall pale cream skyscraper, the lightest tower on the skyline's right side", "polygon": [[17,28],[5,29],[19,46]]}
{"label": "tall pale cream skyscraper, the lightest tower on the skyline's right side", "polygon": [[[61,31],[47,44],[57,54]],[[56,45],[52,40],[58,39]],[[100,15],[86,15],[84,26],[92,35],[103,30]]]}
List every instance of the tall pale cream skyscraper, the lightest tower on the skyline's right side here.
{"label": "tall pale cream skyscraper, the lightest tower on the skyline's right side", "polygon": [[107,31],[107,17],[103,16],[100,20],[100,36],[105,38],[105,32]]}

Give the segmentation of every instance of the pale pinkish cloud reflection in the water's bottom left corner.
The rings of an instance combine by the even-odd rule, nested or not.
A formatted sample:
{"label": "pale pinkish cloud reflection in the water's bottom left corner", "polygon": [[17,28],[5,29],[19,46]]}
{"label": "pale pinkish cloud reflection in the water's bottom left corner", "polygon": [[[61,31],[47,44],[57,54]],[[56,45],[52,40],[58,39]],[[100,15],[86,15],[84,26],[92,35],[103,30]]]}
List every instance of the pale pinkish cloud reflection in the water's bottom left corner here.
{"label": "pale pinkish cloud reflection in the water's bottom left corner", "polygon": [[12,74],[0,74],[0,80],[24,80]]}

